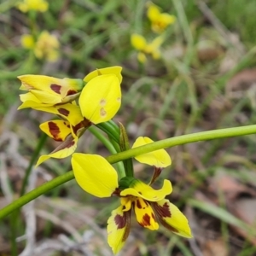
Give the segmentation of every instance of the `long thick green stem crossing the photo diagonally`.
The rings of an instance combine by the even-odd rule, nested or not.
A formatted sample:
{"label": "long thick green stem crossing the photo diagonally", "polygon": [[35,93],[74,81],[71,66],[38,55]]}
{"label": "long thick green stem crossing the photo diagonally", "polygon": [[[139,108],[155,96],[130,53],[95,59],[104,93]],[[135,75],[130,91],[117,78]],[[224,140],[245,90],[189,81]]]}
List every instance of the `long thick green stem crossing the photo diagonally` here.
{"label": "long thick green stem crossing the photo diagonally", "polygon": [[[138,154],[146,154],[152,152],[154,150],[158,150],[160,148],[169,148],[177,145],[183,145],[185,143],[196,143],[200,141],[213,140],[224,137],[237,137],[243,135],[249,135],[256,133],[256,125],[247,125],[236,128],[227,128],[227,129],[219,129],[213,131],[202,131],[198,133],[193,133],[189,135],[183,135],[179,137],[172,137],[165,140],[161,140],[156,143],[150,143],[141,147],[132,148],[130,150],[120,152],[118,154],[113,154],[108,156],[106,159],[110,164],[117,163],[121,160],[125,160],[131,158]],[[42,186],[37,189],[33,189],[26,195],[21,196],[16,201],[9,204],[7,207],[3,207],[0,210],[0,219],[9,215],[9,213],[15,211],[15,209],[24,206],[29,201],[36,199],[38,196],[43,195],[45,192],[50,189],[54,189],[55,187],[67,183],[68,181],[74,178],[73,172],[67,172],[62,174],[59,177],[55,177],[53,180],[48,183],[44,183]]]}

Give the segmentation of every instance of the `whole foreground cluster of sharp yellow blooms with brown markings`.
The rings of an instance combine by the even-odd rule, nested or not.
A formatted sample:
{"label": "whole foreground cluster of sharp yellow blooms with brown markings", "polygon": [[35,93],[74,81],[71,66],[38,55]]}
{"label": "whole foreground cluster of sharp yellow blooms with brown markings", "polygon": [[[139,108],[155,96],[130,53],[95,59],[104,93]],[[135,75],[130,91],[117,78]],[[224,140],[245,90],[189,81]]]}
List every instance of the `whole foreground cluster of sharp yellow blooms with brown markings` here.
{"label": "whole foreground cluster of sharp yellow blooms with brown markings", "polygon": [[[108,122],[118,112],[121,104],[121,67],[97,69],[84,79],[56,79],[43,75],[22,75],[19,109],[33,108],[53,113],[59,119],[52,119],[40,125],[40,129],[60,146],[50,154],[41,155],[37,165],[49,158],[64,158],[72,155],[74,177],[79,186],[97,197],[119,197],[119,207],[108,218],[108,244],[113,253],[124,246],[131,229],[131,212],[137,222],[148,230],[158,230],[162,224],[173,233],[192,237],[188,219],[168,199],[172,184],[164,180],[161,189],[152,185],[172,160],[166,150],[159,149],[147,154],[138,154],[135,159],[154,166],[149,183],[133,176],[132,161],[124,160],[125,176],[118,176],[113,166],[97,154],[74,153],[79,137],[90,125]],[[109,135],[109,134],[108,134]],[[154,143],[148,137],[138,137],[131,148]],[[117,151],[130,148],[125,127],[120,124]]]}

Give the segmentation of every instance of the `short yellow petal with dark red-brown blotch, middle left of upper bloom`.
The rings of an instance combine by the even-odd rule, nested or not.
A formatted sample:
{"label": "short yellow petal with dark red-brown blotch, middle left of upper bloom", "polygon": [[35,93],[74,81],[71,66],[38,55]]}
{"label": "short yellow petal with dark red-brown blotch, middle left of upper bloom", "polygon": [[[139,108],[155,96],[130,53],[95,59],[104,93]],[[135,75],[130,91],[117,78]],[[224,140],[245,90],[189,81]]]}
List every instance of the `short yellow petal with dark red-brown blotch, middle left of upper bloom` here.
{"label": "short yellow petal with dark red-brown blotch, middle left of upper bloom", "polygon": [[57,142],[64,142],[66,137],[71,133],[71,127],[68,121],[64,120],[47,121],[39,127],[44,133]]}

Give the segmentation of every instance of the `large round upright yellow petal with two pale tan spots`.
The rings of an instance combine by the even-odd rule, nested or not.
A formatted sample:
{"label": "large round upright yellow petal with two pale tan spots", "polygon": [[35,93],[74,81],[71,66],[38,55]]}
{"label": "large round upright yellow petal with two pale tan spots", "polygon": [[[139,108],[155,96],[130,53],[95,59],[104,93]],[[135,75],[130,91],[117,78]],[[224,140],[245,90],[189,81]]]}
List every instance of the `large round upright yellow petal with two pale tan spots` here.
{"label": "large round upright yellow petal with two pale tan spots", "polygon": [[108,74],[91,79],[81,92],[79,105],[83,116],[93,124],[112,119],[121,105],[117,76]]}

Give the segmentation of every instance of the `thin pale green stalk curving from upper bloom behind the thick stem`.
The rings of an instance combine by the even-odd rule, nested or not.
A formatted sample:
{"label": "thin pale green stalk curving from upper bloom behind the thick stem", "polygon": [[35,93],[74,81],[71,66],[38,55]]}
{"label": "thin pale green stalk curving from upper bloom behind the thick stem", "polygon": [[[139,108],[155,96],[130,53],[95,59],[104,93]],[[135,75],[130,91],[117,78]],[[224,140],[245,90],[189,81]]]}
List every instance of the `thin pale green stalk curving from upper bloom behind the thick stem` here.
{"label": "thin pale green stalk curving from upper bloom behind the thick stem", "polygon": [[[90,128],[88,129],[100,142],[102,142],[102,144],[108,148],[108,151],[111,153],[111,154],[116,154],[117,151],[115,150],[115,148],[113,147],[113,144],[111,142],[109,142],[108,138],[107,137],[104,137],[104,135],[99,132],[97,130],[96,127],[94,126],[90,126]],[[124,169],[124,165],[121,161],[119,161],[117,163],[117,171],[119,173],[119,177],[125,177],[125,169]]]}

